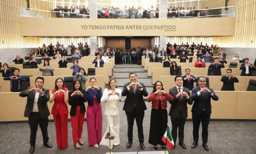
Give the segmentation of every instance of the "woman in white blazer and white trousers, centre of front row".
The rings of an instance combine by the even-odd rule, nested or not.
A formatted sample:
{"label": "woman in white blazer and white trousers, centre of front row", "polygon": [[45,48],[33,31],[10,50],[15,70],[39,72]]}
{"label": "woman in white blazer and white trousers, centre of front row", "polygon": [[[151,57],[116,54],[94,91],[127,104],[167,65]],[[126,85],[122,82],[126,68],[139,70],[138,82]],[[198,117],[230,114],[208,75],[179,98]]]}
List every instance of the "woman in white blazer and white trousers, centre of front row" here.
{"label": "woman in white blazer and white trousers, centre of front row", "polygon": [[119,127],[120,127],[120,114],[121,107],[119,100],[124,101],[124,97],[121,95],[122,90],[117,89],[117,81],[114,78],[109,79],[108,88],[104,90],[101,97],[101,102],[106,102],[105,115],[108,121],[108,124],[114,126],[114,131],[117,134],[117,137],[114,139],[113,145],[118,145],[119,140]]}

